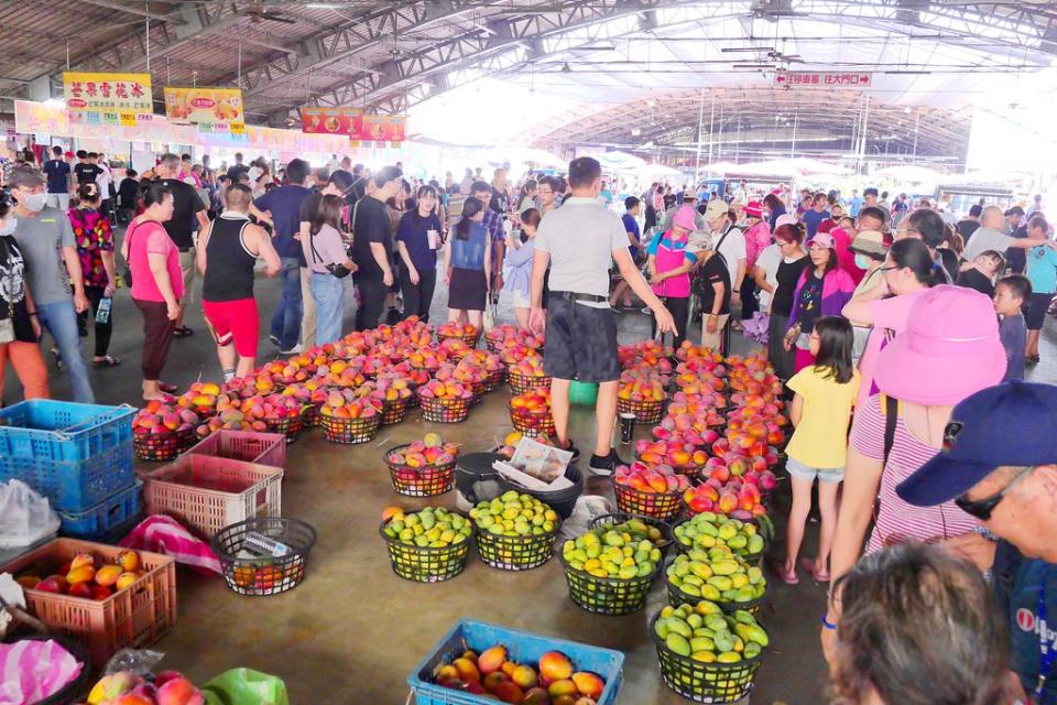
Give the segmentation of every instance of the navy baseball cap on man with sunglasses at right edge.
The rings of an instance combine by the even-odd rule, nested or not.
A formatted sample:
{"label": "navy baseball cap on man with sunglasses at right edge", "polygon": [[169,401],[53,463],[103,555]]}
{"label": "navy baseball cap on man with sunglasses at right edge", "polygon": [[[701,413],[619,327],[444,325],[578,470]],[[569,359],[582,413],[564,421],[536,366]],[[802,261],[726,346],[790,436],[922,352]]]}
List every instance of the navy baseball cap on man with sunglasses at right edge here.
{"label": "navy baseball cap on man with sunglasses at right edge", "polygon": [[1057,463],[1055,424],[1057,386],[988,387],[955,406],[944,448],[895,491],[912,505],[931,507],[965,495],[999,467]]}

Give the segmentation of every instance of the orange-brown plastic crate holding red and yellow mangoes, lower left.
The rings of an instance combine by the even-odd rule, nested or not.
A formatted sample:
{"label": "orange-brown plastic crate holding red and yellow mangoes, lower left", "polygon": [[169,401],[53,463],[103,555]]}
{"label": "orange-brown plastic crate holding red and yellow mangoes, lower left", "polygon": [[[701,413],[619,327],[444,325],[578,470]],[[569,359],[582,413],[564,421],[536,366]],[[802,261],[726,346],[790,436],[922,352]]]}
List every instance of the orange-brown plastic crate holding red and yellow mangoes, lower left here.
{"label": "orange-brown plastic crate holding red and yellow mangoes, lower left", "polygon": [[[44,578],[78,553],[91,554],[96,565],[101,565],[113,563],[123,550],[91,541],[56,539],[0,567],[0,573]],[[123,590],[96,600],[26,589],[28,611],[48,629],[85,644],[96,669],[106,665],[119,649],[150,646],[176,622],[176,564],[160,553],[135,553],[144,575]]]}

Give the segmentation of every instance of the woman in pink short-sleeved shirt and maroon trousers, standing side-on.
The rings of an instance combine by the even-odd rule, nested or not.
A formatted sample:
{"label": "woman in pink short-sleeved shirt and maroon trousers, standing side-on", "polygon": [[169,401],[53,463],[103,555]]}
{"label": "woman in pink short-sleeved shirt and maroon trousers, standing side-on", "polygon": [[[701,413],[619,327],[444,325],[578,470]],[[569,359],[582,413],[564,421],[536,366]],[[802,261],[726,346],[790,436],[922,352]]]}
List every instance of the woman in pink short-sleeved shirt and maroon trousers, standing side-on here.
{"label": "woman in pink short-sleeved shirt and maroon trousers, standing side-on", "polygon": [[142,192],[143,214],[129,225],[121,254],[132,274],[132,303],[143,314],[143,399],[163,399],[176,391],[159,378],[168,358],[184,278],[179,250],[162,225],[173,217],[173,192],[151,183]]}

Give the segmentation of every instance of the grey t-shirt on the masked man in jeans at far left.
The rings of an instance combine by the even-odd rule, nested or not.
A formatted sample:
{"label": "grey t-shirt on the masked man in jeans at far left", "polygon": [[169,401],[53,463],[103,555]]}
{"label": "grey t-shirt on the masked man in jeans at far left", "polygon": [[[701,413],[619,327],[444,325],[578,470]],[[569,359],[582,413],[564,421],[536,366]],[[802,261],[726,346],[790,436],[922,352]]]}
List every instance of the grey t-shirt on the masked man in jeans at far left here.
{"label": "grey t-shirt on the masked man in jeans at far left", "polygon": [[76,247],[76,242],[66,214],[44,208],[35,218],[19,218],[14,239],[25,259],[30,293],[36,305],[68,300],[69,274],[62,248]]}

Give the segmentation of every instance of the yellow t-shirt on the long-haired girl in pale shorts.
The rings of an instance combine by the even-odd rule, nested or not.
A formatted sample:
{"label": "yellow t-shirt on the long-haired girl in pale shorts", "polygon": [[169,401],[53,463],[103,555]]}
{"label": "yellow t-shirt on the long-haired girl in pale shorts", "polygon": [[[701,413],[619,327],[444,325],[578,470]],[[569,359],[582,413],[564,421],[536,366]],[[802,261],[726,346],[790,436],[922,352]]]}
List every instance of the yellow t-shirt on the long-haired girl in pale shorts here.
{"label": "yellow t-shirt on the long-haired girl in pale shorts", "polygon": [[805,367],[789,380],[789,389],[804,398],[800,424],[785,452],[814,468],[844,467],[848,459],[848,424],[859,393],[859,372],[840,384],[827,368]]}

